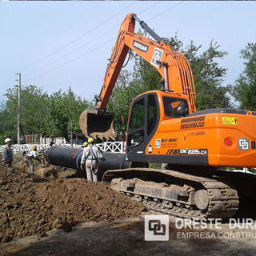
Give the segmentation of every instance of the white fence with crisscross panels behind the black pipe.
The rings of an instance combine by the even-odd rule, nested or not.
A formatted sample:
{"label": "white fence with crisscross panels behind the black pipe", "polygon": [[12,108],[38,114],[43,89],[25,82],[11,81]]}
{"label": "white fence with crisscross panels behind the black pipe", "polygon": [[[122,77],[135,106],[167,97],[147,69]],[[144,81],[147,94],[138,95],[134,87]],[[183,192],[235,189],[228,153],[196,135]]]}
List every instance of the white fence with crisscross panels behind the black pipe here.
{"label": "white fence with crisscross panels behind the black pipe", "polygon": [[[32,150],[32,146],[37,146],[38,150],[46,150],[50,146],[48,144],[14,144],[11,146],[14,154],[22,154],[24,151]],[[71,144],[56,144],[59,146],[71,147]],[[125,142],[103,142],[96,144],[98,148],[104,152],[125,153]],[[0,153],[4,146],[0,146]],[[82,145],[73,144],[74,148],[82,149]]]}

